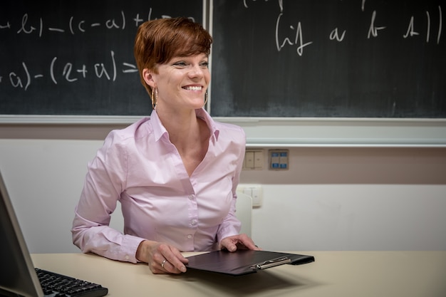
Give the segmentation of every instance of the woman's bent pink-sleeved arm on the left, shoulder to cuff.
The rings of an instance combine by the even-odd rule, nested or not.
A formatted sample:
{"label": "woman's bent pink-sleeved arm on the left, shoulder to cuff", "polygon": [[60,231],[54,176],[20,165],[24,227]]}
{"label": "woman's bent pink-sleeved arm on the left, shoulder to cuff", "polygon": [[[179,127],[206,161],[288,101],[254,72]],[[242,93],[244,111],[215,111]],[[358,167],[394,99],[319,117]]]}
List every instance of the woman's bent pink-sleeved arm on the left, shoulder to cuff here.
{"label": "woman's bent pink-sleeved arm on the left, shoulder to cuff", "polygon": [[127,176],[127,155],[122,144],[118,134],[110,132],[103,147],[88,164],[71,232],[73,244],[84,253],[135,263],[138,261],[136,251],[144,239],[124,235],[109,226],[110,215],[115,211]]}

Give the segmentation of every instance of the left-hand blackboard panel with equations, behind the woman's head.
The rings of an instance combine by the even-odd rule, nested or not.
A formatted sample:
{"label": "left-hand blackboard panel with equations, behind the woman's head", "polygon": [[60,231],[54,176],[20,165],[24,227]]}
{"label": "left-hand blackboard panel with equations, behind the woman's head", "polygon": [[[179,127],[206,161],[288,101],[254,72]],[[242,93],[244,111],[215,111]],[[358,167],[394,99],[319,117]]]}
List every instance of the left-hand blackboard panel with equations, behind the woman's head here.
{"label": "left-hand blackboard panel with equations, behind the woman's head", "polygon": [[2,1],[0,114],[150,114],[133,41],[167,16],[202,23],[202,0]]}

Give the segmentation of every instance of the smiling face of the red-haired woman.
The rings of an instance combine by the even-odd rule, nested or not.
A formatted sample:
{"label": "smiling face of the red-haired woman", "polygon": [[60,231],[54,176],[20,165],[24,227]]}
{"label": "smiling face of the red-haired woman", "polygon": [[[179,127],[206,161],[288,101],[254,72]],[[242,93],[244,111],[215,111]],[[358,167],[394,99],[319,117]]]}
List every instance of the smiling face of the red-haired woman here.
{"label": "smiling face of the red-haired woman", "polygon": [[158,90],[157,109],[202,108],[210,80],[206,54],[174,57],[158,65],[157,70],[144,75],[146,82]]}

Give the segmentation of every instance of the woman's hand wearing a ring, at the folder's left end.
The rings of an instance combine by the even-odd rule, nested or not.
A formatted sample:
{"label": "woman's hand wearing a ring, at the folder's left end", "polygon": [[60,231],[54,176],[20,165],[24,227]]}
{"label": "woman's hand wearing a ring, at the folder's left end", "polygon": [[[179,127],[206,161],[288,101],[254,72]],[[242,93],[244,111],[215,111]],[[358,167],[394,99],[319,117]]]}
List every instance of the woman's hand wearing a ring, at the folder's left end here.
{"label": "woman's hand wearing a ring, at the folder's left end", "polygon": [[189,261],[175,247],[148,240],[138,246],[136,259],[149,264],[150,271],[155,274],[186,272],[185,264]]}

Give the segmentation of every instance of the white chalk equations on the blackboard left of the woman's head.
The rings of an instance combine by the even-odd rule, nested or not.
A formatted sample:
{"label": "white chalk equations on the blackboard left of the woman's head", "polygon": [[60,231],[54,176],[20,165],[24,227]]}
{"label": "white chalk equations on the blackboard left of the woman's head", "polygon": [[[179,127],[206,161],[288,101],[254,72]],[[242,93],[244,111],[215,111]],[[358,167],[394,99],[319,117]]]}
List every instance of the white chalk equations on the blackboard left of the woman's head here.
{"label": "white chalk equations on the blackboard left of the woman's head", "polygon": [[[138,28],[144,21],[152,19],[152,8],[147,12],[147,16],[140,14],[127,15],[125,11],[119,11],[118,17],[106,19],[102,22],[88,22],[85,19],[70,16],[62,24],[46,24],[43,17],[33,17],[31,21],[30,14],[26,13],[19,19],[0,19],[0,34],[11,34],[14,36],[38,36],[40,39],[51,38],[55,34],[76,34],[103,33],[100,30],[123,31],[125,28]],[[170,18],[171,16],[162,14],[161,18]],[[190,16],[190,19],[195,19]],[[73,45],[75,46],[75,45]],[[128,46],[133,48],[133,44]],[[40,51],[51,51],[51,48],[40,48]],[[129,61],[126,61],[128,59]],[[54,85],[62,80],[68,83],[76,83],[78,80],[89,78],[105,79],[110,82],[118,80],[119,75],[138,72],[138,68],[133,63],[133,56],[122,57],[119,64],[116,61],[115,51],[109,50],[107,53],[101,53],[101,61],[90,61],[89,64],[79,63],[78,57],[73,57],[76,61],[63,60],[58,56],[51,57],[48,65],[39,65],[38,68],[31,68],[30,61],[18,61],[16,68],[6,70],[0,68],[0,85],[8,84],[12,88],[19,90],[28,90],[33,83],[38,80],[48,78]],[[91,58],[89,58],[91,60]],[[44,63],[43,63],[44,64]]]}

